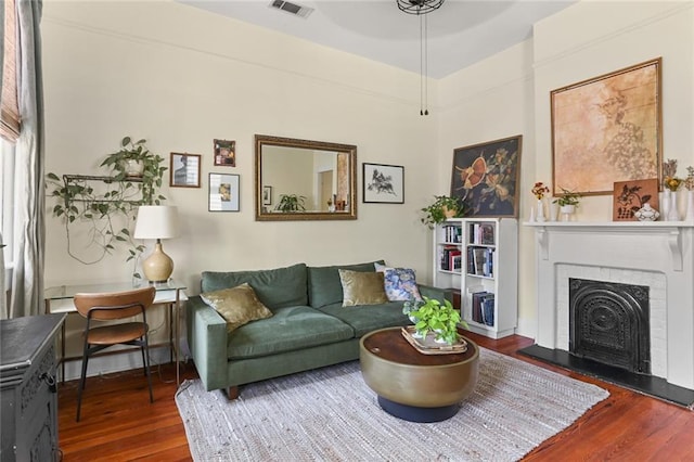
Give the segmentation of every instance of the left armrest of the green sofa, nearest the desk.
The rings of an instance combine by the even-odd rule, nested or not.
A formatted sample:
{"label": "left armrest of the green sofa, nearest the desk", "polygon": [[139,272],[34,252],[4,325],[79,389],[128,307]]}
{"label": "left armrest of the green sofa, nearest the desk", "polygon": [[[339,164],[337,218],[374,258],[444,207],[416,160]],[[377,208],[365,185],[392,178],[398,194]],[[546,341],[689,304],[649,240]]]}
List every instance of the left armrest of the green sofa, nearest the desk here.
{"label": "left armrest of the green sofa, nearest the desk", "polygon": [[205,389],[228,386],[227,321],[200,296],[187,304],[188,343]]}

